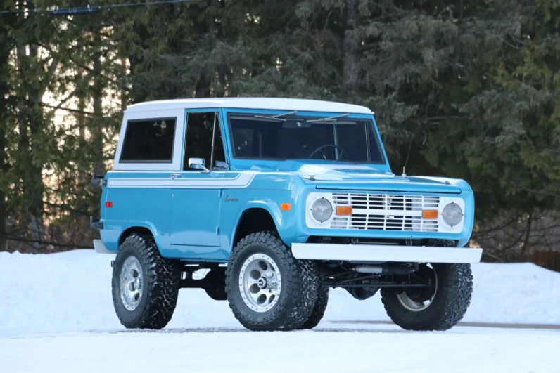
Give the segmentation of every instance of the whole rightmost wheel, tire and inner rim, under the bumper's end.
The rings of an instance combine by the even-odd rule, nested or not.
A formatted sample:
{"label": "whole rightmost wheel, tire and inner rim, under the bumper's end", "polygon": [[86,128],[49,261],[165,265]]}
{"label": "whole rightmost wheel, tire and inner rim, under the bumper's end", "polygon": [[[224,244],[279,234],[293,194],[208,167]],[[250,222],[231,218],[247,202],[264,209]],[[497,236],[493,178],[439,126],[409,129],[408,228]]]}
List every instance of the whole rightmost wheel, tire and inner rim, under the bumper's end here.
{"label": "whole rightmost wheel, tire and inner rim, under the bumper's end", "polygon": [[471,303],[471,265],[422,264],[414,275],[429,286],[381,290],[381,301],[391,320],[407,330],[447,330],[456,325]]}

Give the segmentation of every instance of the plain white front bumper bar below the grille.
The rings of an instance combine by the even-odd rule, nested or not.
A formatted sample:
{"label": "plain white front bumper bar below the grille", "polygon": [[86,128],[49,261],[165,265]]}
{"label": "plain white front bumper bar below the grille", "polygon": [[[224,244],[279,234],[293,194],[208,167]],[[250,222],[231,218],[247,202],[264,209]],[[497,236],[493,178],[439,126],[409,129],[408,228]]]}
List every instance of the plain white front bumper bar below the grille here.
{"label": "plain white front bumper bar below the grille", "polygon": [[321,261],[397,261],[412,263],[478,263],[482,249],[374,244],[292,244],[297,259]]}

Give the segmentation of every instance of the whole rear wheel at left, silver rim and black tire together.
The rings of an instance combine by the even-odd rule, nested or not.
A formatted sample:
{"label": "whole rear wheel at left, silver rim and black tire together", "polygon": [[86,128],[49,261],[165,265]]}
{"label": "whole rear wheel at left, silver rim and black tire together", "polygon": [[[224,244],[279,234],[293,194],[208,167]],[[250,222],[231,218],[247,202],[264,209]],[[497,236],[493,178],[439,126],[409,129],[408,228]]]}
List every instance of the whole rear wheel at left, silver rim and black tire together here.
{"label": "whole rear wheel at left, silver rim and black tire together", "polygon": [[160,256],[151,235],[129,235],[113,265],[113,305],[121,324],[165,327],[177,305],[180,274],[178,262]]}

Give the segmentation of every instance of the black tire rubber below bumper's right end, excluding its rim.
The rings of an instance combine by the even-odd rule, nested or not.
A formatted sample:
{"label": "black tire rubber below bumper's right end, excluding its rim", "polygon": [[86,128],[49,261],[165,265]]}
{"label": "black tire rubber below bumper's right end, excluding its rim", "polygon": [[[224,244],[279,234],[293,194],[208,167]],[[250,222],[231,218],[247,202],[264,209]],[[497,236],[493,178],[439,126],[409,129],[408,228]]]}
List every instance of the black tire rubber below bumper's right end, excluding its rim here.
{"label": "black tire rubber below bumper's right end, excluding its rim", "polygon": [[471,303],[473,274],[470,264],[432,265],[438,277],[438,289],[428,308],[407,310],[397,299],[401,291],[382,289],[381,301],[387,315],[396,325],[407,330],[447,330],[459,322]]}

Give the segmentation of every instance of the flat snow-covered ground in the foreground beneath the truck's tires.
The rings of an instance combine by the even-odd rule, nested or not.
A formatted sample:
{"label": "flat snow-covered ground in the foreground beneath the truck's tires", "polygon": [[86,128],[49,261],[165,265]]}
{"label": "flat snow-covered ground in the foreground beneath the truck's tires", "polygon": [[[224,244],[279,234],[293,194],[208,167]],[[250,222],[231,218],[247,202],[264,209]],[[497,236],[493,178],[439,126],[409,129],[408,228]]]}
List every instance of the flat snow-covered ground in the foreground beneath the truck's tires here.
{"label": "flat snow-covered ground in the foreground beneath the truck's tires", "polygon": [[[329,330],[330,329],[330,330]],[[0,372],[559,372],[560,333],[457,327],[82,333],[0,339]],[[177,333],[175,333],[177,332]]]}

